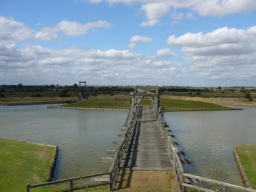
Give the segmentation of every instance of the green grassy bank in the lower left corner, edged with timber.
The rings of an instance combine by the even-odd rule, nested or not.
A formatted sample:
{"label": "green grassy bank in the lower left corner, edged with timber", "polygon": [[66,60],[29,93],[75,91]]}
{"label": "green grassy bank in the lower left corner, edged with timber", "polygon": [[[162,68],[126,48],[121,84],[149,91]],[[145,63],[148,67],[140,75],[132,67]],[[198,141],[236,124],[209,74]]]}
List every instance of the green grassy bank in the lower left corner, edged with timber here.
{"label": "green grassy bank in the lower left corner, edged with timber", "polygon": [[46,182],[54,155],[54,147],[0,139],[0,191],[26,191],[26,183]]}

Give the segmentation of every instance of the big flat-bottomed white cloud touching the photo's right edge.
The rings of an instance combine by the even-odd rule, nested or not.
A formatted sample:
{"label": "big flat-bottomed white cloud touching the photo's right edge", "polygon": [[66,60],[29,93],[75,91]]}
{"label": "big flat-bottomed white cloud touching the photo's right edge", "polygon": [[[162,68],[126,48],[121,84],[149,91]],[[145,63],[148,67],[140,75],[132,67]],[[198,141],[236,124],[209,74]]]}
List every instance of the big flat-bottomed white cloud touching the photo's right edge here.
{"label": "big flat-bottomed white cloud touching the photo's right edge", "polygon": [[180,37],[171,35],[166,43],[180,46],[187,55],[243,55],[256,51],[256,27],[247,30],[223,27],[203,34],[186,33]]}

